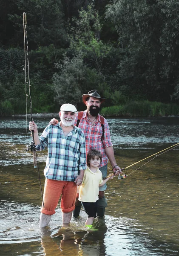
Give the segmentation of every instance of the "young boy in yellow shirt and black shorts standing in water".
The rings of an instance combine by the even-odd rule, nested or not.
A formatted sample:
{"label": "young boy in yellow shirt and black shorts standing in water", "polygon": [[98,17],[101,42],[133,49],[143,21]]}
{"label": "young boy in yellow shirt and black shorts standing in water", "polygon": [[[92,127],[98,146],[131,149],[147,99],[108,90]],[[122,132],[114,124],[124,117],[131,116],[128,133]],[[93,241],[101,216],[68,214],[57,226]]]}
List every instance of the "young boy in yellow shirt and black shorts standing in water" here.
{"label": "young boy in yellow shirt and black shorts standing in water", "polygon": [[102,161],[102,154],[99,150],[91,149],[87,154],[87,166],[85,170],[82,184],[80,185],[79,200],[88,215],[86,226],[91,228],[94,218],[97,217],[97,200],[99,194],[99,186],[104,185],[109,179],[113,179],[114,175],[102,179],[102,172],[98,166]]}

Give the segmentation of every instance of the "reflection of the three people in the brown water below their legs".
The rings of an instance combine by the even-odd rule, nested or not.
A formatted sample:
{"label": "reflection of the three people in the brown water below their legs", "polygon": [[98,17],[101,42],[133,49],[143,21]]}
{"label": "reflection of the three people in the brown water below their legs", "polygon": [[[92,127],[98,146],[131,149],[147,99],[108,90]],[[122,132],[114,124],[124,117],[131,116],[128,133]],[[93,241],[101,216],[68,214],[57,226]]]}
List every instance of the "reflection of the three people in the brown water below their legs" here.
{"label": "reflection of the three people in the brown water below their legs", "polygon": [[77,227],[63,231],[60,229],[56,234],[51,234],[49,230],[44,232],[41,240],[44,255],[105,255],[105,221],[96,221],[96,228],[98,232],[85,231],[84,227],[83,230]]}

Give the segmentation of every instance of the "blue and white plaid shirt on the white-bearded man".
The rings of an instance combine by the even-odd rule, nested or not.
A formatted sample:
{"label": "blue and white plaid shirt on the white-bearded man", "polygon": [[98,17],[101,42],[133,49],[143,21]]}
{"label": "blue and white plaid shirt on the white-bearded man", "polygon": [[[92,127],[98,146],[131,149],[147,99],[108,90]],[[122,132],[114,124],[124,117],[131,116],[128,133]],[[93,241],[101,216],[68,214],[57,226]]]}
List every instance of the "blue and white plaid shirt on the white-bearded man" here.
{"label": "blue and white plaid shirt on the white-bearded man", "polygon": [[74,126],[65,136],[60,123],[48,125],[39,139],[36,149],[48,148],[44,169],[47,179],[74,181],[80,170],[86,169],[85,136],[80,128]]}

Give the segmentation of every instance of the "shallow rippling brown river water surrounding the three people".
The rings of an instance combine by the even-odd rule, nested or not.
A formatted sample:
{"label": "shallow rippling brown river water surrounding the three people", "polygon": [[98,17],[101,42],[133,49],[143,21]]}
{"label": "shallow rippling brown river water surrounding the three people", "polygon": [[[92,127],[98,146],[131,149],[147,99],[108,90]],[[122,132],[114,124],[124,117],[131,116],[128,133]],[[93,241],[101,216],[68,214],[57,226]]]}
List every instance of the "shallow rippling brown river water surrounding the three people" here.
{"label": "shallow rippling brown river water surrounding the three people", "polygon": [[[52,116],[57,118],[34,115],[39,133]],[[85,230],[84,210],[63,230],[60,206],[49,226],[40,230],[42,199],[32,153],[26,152],[31,141],[28,122],[25,116],[0,119],[0,255],[179,255],[179,147],[126,168],[123,180],[108,181],[108,207],[105,218],[95,220],[98,231]],[[177,117],[108,123],[121,168],[179,143]],[[42,188],[46,153],[37,152]]]}

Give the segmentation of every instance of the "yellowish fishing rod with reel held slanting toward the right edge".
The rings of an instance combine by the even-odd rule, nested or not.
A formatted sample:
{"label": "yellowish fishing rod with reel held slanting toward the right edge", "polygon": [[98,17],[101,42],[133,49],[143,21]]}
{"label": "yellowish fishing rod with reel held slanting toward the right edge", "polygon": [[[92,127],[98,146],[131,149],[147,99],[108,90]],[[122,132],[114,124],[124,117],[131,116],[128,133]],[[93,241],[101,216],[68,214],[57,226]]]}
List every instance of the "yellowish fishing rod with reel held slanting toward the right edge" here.
{"label": "yellowish fishing rod with reel held slanting toward the right edge", "polygon": [[[151,162],[154,158],[159,157],[161,154],[164,154],[164,153],[166,153],[166,152],[170,151],[171,149],[176,148],[176,147],[178,147],[178,146],[179,146],[179,143],[176,143],[176,144],[174,144],[174,145],[172,145],[172,146],[170,146],[170,147],[168,147],[168,148],[165,148],[165,149],[163,149],[163,150],[161,150],[161,151],[159,151],[159,152],[157,152],[157,153],[155,153],[155,154],[152,154],[152,155],[149,156],[149,157],[145,157],[144,159],[142,159],[142,160],[140,160],[140,161],[137,161],[136,163],[133,163],[133,164],[131,164],[130,166],[123,167],[123,168],[121,169],[121,171],[124,171],[125,169],[128,169],[129,167],[134,166],[134,165],[136,165],[137,163],[140,163],[140,162],[142,162],[142,161],[144,161],[144,160],[146,160],[146,159],[148,159],[148,158],[150,158],[150,157],[155,156],[155,157],[153,157],[151,160],[149,160],[148,162],[146,162],[146,163],[144,163],[144,164],[142,165],[142,166],[145,166],[145,164]],[[164,151],[165,151],[165,152],[164,152]],[[163,152],[163,153],[162,153],[162,152]],[[159,153],[161,153],[161,154],[159,154]],[[140,166],[139,168],[141,168],[142,166]],[[139,168],[137,168],[136,170],[138,170]],[[134,170],[133,172],[135,172],[136,170]],[[131,173],[128,174],[128,175],[126,175],[126,174],[123,173],[122,176],[120,176],[120,174],[119,174],[119,177],[118,177],[118,178],[119,178],[119,179],[124,179],[124,178],[126,178],[127,176],[131,175],[133,172],[131,172]],[[107,178],[110,177],[110,176],[112,176],[112,175],[114,175],[114,173],[109,174],[109,175],[107,176]]]}

